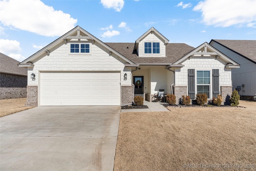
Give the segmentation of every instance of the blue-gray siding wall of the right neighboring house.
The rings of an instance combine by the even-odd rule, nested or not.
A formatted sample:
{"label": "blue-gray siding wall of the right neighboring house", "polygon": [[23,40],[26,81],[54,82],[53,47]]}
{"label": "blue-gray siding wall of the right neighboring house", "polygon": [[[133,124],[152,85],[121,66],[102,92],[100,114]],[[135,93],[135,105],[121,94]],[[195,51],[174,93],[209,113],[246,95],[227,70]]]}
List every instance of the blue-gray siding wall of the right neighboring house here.
{"label": "blue-gray siding wall of the right neighboring house", "polygon": [[228,56],[228,58],[234,60],[240,65],[240,68],[232,69],[232,86],[233,89],[237,86],[244,84],[245,92],[239,91],[240,95],[255,95],[256,93],[256,64],[247,60],[246,58],[232,52],[231,50],[221,46],[216,42],[212,42],[211,45],[218,49],[220,52]]}

